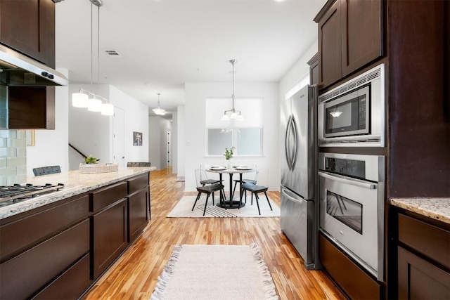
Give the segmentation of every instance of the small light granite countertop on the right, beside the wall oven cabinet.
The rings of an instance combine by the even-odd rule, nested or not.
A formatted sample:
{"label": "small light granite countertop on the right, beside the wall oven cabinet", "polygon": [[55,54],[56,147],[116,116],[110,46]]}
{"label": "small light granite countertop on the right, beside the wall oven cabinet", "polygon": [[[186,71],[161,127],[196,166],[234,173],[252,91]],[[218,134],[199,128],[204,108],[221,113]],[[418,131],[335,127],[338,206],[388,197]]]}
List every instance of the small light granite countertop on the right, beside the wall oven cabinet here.
{"label": "small light granite countertop on the right, beside the wall oven cabinet", "polygon": [[450,198],[392,198],[390,203],[396,207],[428,216],[431,219],[450,224]]}

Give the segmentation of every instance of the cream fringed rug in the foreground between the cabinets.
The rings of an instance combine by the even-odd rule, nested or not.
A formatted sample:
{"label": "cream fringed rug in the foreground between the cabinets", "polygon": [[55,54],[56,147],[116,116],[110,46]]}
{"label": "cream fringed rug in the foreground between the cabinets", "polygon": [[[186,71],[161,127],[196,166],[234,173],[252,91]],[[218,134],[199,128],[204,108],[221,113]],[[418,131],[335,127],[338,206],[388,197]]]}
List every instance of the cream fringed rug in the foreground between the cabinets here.
{"label": "cream fringed rug in the foreground between the cabinets", "polygon": [[150,300],[279,299],[261,249],[176,245]]}

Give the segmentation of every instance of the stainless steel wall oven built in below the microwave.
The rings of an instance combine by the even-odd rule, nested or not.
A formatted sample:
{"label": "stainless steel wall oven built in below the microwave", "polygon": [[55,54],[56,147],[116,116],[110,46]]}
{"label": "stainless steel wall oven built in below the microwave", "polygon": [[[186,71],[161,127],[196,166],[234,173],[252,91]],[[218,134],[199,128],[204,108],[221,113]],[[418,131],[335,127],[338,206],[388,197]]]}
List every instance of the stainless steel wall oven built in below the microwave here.
{"label": "stainless steel wall oven built in below the microwave", "polygon": [[319,230],[383,281],[385,157],[319,153]]}

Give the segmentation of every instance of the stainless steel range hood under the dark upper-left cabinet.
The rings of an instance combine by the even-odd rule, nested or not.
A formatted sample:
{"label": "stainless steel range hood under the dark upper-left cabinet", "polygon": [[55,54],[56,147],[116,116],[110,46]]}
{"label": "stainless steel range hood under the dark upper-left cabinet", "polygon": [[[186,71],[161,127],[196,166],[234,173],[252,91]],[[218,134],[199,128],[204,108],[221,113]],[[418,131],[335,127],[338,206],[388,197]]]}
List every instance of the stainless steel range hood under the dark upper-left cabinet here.
{"label": "stainless steel range hood under the dark upper-left cabinet", "polygon": [[0,84],[6,86],[67,86],[60,72],[0,45]]}

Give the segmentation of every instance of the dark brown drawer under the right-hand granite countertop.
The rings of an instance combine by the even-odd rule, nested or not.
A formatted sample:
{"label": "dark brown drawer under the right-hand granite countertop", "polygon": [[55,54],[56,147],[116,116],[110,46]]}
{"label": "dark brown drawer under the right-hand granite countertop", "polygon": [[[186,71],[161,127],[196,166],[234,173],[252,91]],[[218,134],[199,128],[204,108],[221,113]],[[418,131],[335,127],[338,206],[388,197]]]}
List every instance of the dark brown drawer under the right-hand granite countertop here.
{"label": "dark brown drawer under the right-hand granite countertop", "polygon": [[399,242],[450,268],[450,232],[399,214]]}

